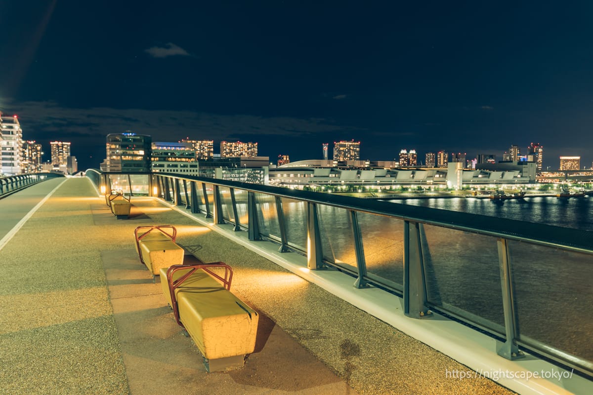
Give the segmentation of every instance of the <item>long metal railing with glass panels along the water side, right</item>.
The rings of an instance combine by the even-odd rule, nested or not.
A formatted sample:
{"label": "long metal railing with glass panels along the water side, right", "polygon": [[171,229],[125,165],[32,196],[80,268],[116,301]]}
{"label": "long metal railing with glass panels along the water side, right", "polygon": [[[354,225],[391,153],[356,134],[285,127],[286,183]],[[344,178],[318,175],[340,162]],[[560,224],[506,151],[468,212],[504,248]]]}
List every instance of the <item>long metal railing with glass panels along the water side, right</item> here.
{"label": "long metal railing with glass panels along the water side, right", "polygon": [[388,201],[171,174],[87,171],[97,188],[151,195],[248,239],[403,297],[413,318],[447,314],[593,375],[593,232]]}

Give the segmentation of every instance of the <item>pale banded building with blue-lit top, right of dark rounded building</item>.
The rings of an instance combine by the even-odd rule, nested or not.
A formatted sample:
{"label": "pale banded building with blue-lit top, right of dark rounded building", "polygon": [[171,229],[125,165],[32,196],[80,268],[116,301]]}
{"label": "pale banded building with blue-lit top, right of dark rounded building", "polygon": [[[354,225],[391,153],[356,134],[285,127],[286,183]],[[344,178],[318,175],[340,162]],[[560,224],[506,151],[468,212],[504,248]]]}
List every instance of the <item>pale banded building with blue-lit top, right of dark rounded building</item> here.
{"label": "pale banded building with blue-lit top, right of dark rounded building", "polygon": [[196,152],[190,143],[162,143],[151,145],[151,171],[197,175]]}

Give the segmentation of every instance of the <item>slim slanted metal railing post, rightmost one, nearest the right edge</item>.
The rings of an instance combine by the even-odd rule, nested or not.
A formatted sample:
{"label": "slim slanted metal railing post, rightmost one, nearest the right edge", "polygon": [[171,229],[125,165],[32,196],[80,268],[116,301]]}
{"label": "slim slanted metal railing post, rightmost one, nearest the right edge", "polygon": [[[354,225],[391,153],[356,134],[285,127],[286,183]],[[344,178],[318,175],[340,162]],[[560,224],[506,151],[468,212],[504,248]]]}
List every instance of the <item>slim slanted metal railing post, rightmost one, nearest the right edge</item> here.
{"label": "slim slanted metal railing post, rightmost one, nearest the right edge", "polygon": [[511,280],[511,259],[509,256],[508,240],[500,238],[497,240],[497,244],[506,340],[505,342],[496,341],[496,353],[506,359],[517,359],[524,357],[524,355],[519,351],[517,343],[515,343],[518,326],[517,314],[515,314],[513,283]]}

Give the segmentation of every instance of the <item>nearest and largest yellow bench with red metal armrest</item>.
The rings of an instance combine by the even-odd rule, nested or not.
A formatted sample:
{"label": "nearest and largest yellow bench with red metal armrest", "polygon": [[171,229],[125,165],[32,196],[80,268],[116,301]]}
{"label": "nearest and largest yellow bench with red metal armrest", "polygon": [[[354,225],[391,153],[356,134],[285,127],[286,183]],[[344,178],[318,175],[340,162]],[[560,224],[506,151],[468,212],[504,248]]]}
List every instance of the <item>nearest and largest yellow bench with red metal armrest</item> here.
{"label": "nearest and largest yellow bench with red metal armrest", "polygon": [[[224,268],[224,277],[216,268]],[[231,281],[232,269],[223,262],[161,269],[165,298],[208,372],[243,367],[245,355],[255,349],[259,315],[231,293]]]}

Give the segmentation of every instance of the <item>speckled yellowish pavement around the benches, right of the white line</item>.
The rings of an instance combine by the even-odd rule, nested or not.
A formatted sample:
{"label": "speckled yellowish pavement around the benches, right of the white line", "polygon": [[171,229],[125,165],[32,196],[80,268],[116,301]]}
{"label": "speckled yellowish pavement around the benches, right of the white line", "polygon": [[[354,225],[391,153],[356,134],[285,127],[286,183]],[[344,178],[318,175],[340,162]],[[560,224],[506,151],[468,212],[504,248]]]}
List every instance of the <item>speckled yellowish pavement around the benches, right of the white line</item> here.
{"label": "speckled yellowish pavement around the benches, right of the white line", "polygon": [[[88,179],[68,179],[0,251],[1,394],[512,393],[447,378],[467,368],[157,200],[132,203],[118,220]],[[138,263],[145,224],[234,268],[233,292],[262,313],[243,369],[206,374]]]}

